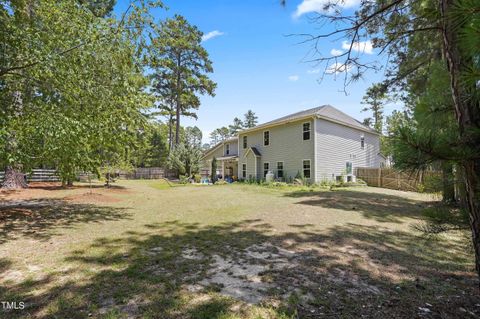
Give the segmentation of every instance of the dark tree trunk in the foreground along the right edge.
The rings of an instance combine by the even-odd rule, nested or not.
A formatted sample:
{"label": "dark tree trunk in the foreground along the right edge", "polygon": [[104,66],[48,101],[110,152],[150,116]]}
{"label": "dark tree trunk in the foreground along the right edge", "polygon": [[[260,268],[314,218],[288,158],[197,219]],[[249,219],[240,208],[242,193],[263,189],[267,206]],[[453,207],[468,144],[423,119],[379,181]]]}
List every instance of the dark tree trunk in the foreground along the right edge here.
{"label": "dark tree trunk in the foreground along the right edge", "polygon": [[[443,55],[450,75],[455,117],[459,125],[460,142],[467,150],[476,151],[480,145],[480,105],[474,98],[475,86],[466,87],[461,83],[462,72],[473,64],[471,56],[462,55],[458,31],[462,25],[455,20],[452,11],[455,0],[440,0],[442,14]],[[470,217],[472,242],[475,251],[475,268],[480,277],[480,163],[473,158],[462,163],[465,173],[465,204]]]}

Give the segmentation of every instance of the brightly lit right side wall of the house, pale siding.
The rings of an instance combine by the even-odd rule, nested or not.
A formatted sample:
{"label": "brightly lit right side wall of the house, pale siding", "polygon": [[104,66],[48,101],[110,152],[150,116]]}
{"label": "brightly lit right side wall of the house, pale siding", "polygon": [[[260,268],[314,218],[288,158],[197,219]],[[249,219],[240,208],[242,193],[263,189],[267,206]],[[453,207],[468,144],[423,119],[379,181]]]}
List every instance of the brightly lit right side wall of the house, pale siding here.
{"label": "brightly lit right side wall of the house, pale siding", "polygon": [[[317,182],[342,175],[346,162],[352,162],[353,172],[355,167],[380,167],[378,135],[323,119],[316,121]],[[360,144],[362,135],[365,137],[364,149]]]}

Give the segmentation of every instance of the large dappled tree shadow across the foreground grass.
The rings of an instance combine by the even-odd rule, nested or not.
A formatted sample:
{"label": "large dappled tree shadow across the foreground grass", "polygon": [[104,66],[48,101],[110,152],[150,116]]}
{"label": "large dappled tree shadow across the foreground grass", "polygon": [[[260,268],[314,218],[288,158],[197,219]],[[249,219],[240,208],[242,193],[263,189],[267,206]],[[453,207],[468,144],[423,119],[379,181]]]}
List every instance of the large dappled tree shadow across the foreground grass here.
{"label": "large dappled tree shadow across the foreground grass", "polygon": [[[66,256],[70,273],[31,281],[27,288],[8,286],[10,296],[27,304],[9,318],[480,314],[472,258],[455,241],[431,242],[355,224],[324,233],[299,228],[267,236],[272,227],[259,222],[201,226],[170,221],[98,239]],[[71,280],[59,280],[65,276]],[[252,296],[262,303],[251,302]]]}

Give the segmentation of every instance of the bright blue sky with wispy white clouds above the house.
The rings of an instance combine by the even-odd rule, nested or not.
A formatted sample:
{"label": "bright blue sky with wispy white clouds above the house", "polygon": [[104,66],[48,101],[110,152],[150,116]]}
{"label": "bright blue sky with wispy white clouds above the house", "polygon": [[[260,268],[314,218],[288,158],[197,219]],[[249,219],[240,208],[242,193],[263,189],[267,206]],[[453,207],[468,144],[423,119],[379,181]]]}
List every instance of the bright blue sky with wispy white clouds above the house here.
{"label": "bright blue sky with wispy white clouds above the house", "polygon": [[[323,104],[359,120],[367,116],[360,112],[361,98],[371,83],[382,79],[382,73],[367,73],[348,87],[348,95],[343,92],[343,73],[336,80],[326,76],[319,83],[319,67],[305,62],[310,45],[298,44],[299,37],[287,35],[328,31],[329,27],[318,30],[308,19],[309,11],[318,10],[325,0],[290,0],[286,7],[279,2],[165,0],[169,9],[154,12],[159,19],[181,14],[205,34],[216,35],[203,43],[213,61],[216,95],[201,98],[197,121],[182,119],[182,125],[198,126],[205,141],[213,129],[227,126],[235,116],[242,118],[248,109],[260,123]],[[346,0],[345,10],[353,10],[358,2]],[[118,0],[116,11],[128,3]],[[332,49],[342,50],[342,41],[326,39],[320,47],[328,55]],[[362,48],[365,59],[381,59],[368,46]]]}

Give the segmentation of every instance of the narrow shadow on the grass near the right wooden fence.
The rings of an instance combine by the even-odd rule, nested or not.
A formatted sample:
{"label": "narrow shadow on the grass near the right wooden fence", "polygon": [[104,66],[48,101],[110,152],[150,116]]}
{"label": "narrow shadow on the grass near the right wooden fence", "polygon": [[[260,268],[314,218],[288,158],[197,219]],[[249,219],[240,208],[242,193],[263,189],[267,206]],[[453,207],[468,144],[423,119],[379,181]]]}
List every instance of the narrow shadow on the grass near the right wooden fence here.
{"label": "narrow shadow on the grass near the right wooden fence", "polygon": [[351,190],[297,191],[285,196],[300,199],[296,203],[299,205],[358,211],[380,222],[402,222],[403,217],[420,218],[422,210],[428,205],[395,195]]}

